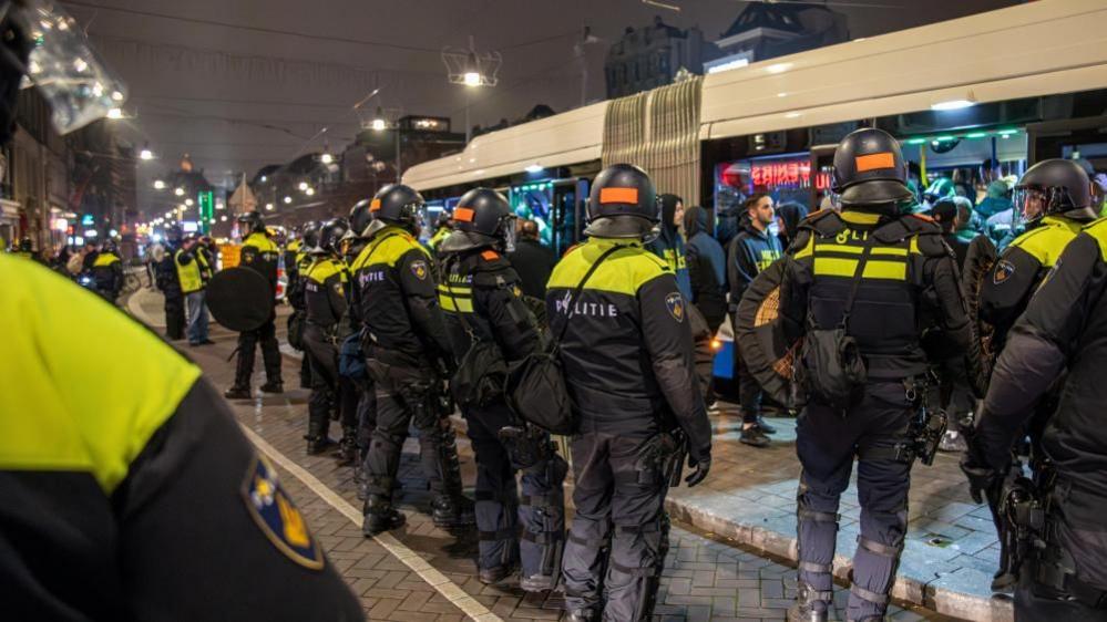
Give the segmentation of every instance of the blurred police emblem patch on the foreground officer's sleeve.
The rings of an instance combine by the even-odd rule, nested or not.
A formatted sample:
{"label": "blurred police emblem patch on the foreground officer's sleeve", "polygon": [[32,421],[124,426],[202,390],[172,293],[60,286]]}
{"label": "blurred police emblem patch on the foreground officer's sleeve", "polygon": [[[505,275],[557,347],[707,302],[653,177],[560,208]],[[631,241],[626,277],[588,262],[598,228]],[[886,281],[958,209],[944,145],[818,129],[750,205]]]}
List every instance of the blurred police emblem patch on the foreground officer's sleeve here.
{"label": "blurred police emblem patch on the foreground officer's sleeve", "polygon": [[300,566],[322,569],[322,549],[308,531],[300,510],[280,486],[277,471],[265,458],[254,458],[243,480],[242,493],[250,518],[277,550]]}

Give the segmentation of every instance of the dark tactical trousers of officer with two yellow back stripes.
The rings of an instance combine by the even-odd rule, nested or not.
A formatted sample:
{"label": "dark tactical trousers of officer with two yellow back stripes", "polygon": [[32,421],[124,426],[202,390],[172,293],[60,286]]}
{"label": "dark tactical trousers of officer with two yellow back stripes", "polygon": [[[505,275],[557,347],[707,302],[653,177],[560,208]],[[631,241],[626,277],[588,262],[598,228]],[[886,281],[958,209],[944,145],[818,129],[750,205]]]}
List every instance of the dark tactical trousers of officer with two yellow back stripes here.
{"label": "dark tactical trousers of officer with two yellow back stripes", "polygon": [[909,434],[915,407],[904,385],[871,383],[844,415],[809,404],[797,422],[796,453],[803,471],[797,495],[799,580],[813,600],[831,601],[838,502],[858,457],[861,536],[853,556],[849,620],[882,615],[895,580],[908,522],[911,464],[890,456]]}

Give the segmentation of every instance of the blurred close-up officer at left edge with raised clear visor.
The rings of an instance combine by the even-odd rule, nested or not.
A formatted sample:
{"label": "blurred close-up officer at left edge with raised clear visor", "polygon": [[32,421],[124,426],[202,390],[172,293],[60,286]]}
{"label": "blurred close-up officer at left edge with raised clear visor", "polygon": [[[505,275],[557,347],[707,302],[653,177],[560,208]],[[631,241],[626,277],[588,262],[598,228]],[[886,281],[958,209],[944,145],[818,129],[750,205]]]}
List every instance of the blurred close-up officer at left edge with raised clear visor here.
{"label": "blurred close-up officer at left edge with raised clear visor", "polygon": [[[82,80],[95,80],[106,101],[93,107],[117,105],[80,24],[33,7],[2,3],[0,143],[10,138],[19,65],[74,66],[58,51],[80,53],[93,76],[33,73],[32,82],[74,84],[65,103],[90,105],[79,96],[92,92]],[[40,31],[31,62],[24,17],[52,27]],[[95,116],[55,108],[54,120],[79,112],[85,123]],[[43,267],[0,257],[0,280],[4,354],[18,362],[0,374],[4,619],[362,619],[276,471],[199,369]],[[74,343],[88,348],[74,352]]]}

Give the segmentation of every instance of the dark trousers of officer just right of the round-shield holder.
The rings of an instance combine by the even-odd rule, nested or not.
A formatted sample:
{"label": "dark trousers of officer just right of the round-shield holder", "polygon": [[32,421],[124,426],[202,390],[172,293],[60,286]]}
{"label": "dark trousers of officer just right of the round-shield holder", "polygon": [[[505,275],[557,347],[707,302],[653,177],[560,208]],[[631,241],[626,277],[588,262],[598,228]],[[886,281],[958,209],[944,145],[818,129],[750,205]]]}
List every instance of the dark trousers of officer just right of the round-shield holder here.
{"label": "dark trousers of officer just right of the round-shield holder", "polygon": [[311,361],[311,396],[308,397],[308,438],[326,438],[331,413],[338,412],[344,436],[357,428],[357,391],[350,379],[338,373],[338,346],[324,329],[304,326],[305,355]]}

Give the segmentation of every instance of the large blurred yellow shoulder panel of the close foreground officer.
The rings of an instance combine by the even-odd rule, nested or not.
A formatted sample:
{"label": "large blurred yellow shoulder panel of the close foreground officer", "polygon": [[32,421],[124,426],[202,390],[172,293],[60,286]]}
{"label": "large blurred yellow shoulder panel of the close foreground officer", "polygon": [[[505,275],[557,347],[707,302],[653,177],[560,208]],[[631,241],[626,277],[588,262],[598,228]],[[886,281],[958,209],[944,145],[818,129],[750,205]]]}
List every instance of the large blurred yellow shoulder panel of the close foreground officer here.
{"label": "large blurred yellow shoulder panel of the close foreground officer", "polygon": [[[18,362],[0,374],[0,470],[89,473],[111,495],[199,369],[38,263],[0,256],[0,279],[13,286],[0,288],[4,356]],[[103,352],[135,364],[105,366]]]}

